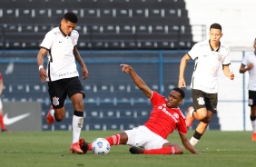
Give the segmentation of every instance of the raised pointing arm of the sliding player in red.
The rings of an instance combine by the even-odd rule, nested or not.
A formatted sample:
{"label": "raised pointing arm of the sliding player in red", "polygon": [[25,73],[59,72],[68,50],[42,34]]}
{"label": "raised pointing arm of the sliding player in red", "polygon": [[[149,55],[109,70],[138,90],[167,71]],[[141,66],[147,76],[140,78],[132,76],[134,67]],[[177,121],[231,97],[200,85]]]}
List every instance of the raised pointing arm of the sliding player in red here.
{"label": "raised pointing arm of the sliding player in red", "polygon": [[138,86],[139,89],[143,91],[143,93],[150,99],[152,97],[152,90],[148,87],[146,83],[144,83],[143,79],[136,74],[133,68],[128,64],[120,64],[123,66],[123,73],[129,73],[133,78],[133,82]]}

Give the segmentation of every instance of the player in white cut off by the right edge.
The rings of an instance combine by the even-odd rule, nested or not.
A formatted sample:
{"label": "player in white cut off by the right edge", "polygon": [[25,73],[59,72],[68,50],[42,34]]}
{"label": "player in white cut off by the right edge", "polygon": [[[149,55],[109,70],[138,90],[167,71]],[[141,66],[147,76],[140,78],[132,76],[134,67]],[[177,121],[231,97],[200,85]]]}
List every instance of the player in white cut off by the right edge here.
{"label": "player in white cut off by the right edge", "polygon": [[252,136],[251,140],[256,141],[256,38],[253,43],[254,52],[246,53],[241,61],[241,67],[239,72],[244,74],[249,72],[249,83],[248,83],[248,92],[249,100],[248,105],[251,107],[251,125],[252,125]]}

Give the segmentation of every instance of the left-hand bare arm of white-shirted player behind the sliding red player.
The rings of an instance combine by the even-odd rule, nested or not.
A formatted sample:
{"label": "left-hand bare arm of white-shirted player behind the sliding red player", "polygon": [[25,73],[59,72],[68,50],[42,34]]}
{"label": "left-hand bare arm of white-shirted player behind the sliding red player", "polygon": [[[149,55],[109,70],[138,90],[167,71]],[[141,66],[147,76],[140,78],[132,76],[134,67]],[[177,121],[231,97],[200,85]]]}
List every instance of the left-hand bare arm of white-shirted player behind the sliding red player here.
{"label": "left-hand bare arm of white-shirted player behind the sliding red player", "polygon": [[191,59],[191,57],[189,56],[189,54],[185,54],[182,57],[181,64],[180,64],[179,82],[178,82],[178,87],[180,87],[180,88],[186,87],[186,82],[185,82],[185,79],[184,79],[184,72],[185,72],[185,68],[187,66],[187,62],[190,59]]}

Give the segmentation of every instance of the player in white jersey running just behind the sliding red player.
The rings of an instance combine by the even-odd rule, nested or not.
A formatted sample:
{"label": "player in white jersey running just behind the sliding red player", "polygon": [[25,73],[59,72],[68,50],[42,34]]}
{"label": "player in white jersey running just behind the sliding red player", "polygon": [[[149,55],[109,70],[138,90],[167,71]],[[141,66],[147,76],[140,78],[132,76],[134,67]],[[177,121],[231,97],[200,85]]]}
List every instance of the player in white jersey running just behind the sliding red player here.
{"label": "player in white jersey running just behind the sliding red player", "polygon": [[189,60],[195,60],[192,74],[192,102],[186,116],[188,127],[192,126],[194,119],[200,121],[190,140],[194,146],[202,137],[213,113],[217,113],[218,103],[218,72],[222,65],[223,73],[234,79],[230,71],[231,58],[229,47],[221,43],[222,25],[212,24],[209,32],[210,39],[192,46],[191,51],[182,57],[178,87],[186,87],[184,71]]}

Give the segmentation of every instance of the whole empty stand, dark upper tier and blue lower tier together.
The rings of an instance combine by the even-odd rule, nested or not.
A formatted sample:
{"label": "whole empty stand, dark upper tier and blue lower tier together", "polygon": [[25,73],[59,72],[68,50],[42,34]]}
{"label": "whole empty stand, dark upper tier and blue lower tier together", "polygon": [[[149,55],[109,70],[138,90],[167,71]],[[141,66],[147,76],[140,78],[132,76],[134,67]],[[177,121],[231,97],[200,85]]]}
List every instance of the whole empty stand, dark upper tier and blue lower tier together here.
{"label": "whole empty stand, dark upper tier and blue lower tier together", "polygon": [[[170,93],[178,81],[179,64],[175,60],[180,61],[183,53],[162,53],[164,80],[160,85],[159,52],[138,51],[192,47],[192,25],[184,0],[1,0],[0,51],[8,51],[2,54],[2,61],[14,61],[12,74],[4,74],[3,101],[41,102],[42,130],[72,129],[74,111],[68,101],[64,121],[51,126],[46,123],[50,106],[47,85],[40,82],[37,64],[31,61],[35,60],[44,34],[58,26],[67,11],[79,17],[76,26],[80,34],[79,50],[98,51],[81,52],[90,71],[90,78],[83,82],[84,129],[125,130],[144,123],[151,112],[151,103],[118,67],[120,63],[130,62],[153,90],[164,96]],[[17,57],[25,61],[15,61]],[[4,72],[8,64],[1,64],[0,71]],[[170,64],[176,70],[170,70]],[[192,68],[189,65],[188,71]],[[190,77],[186,76],[188,81]],[[191,90],[184,91],[187,95],[181,106],[183,113],[192,104]],[[216,123],[210,124],[210,129],[220,129],[218,118],[214,120]]]}

